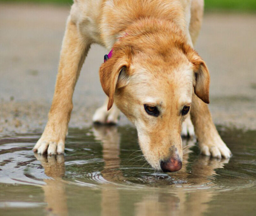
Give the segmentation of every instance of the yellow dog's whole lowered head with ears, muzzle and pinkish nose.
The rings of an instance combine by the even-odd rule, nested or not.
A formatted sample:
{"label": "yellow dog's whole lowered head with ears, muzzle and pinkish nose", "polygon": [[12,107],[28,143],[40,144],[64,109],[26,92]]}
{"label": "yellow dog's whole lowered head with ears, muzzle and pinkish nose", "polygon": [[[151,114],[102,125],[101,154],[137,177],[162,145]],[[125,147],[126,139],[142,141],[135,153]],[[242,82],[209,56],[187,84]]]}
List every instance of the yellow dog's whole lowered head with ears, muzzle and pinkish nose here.
{"label": "yellow dog's whole lowered head with ears, muzzle and pinkish nose", "polygon": [[109,97],[108,109],[115,102],[135,124],[148,163],[175,172],[182,164],[181,124],[192,94],[209,103],[210,78],[184,37],[166,38],[152,36],[150,43],[143,36],[120,40],[100,67],[100,81]]}

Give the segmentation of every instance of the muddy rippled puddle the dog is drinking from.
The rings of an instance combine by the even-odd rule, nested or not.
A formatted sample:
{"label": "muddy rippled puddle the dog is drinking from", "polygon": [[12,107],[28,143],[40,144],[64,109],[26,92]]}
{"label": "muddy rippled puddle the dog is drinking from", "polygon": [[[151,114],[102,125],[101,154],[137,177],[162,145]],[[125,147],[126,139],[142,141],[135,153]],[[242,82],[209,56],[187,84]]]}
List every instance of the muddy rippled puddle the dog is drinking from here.
{"label": "muddy rippled puddle the dog is drinking from", "polygon": [[134,128],[71,129],[64,156],[34,154],[36,132],[2,137],[0,215],[255,215],[255,131],[220,133],[230,160],[183,140],[174,174],[148,166]]}

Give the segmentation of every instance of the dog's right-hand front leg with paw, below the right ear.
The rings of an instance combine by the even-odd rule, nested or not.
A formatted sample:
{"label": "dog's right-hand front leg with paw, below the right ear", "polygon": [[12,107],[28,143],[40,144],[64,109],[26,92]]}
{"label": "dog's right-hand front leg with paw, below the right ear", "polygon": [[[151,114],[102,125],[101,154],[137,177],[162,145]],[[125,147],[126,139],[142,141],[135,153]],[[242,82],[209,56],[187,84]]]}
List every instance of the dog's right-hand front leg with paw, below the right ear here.
{"label": "dog's right-hand front leg with paw, below the right ear", "polygon": [[231,156],[231,151],[220,138],[220,135],[212,122],[212,116],[208,105],[195,94],[193,94],[190,114],[202,154],[218,158],[221,158],[221,156],[229,158]]}

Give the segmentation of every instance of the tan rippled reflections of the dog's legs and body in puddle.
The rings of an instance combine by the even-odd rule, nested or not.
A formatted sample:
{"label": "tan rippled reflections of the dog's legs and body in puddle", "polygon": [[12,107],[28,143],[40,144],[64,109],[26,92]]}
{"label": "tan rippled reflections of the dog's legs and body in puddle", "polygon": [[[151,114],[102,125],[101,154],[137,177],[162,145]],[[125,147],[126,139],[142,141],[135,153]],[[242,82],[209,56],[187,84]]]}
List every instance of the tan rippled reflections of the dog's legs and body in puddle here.
{"label": "tan rippled reflections of the dog's legs and body in puddle", "polygon": [[[100,140],[103,147],[104,169],[101,171],[103,178],[108,182],[121,182],[125,180],[120,169],[120,133],[115,126],[94,126],[93,135],[95,140]],[[183,140],[183,167],[171,176],[175,179],[188,179],[189,184],[203,185],[210,183],[217,168],[223,168],[228,159],[211,159],[207,156],[199,156],[191,165],[191,172],[186,171],[186,164],[190,151],[188,147],[194,145],[193,140]],[[41,161],[46,175],[52,179],[45,179],[43,187],[45,202],[49,215],[68,215],[67,196],[65,181],[65,165],[63,155],[40,156],[35,154]],[[166,187],[170,187],[166,185]],[[152,193],[141,192],[140,198],[134,199],[135,215],[202,215],[208,208],[207,203],[212,200],[213,191],[210,189],[185,190],[183,187],[164,188]],[[170,193],[170,191],[172,193]],[[115,184],[105,184],[101,189],[101,215],[120,215],[120,190]],[[131,200],[130,200],[131,202]],[[132,213],[132,212],[131,212]]]}

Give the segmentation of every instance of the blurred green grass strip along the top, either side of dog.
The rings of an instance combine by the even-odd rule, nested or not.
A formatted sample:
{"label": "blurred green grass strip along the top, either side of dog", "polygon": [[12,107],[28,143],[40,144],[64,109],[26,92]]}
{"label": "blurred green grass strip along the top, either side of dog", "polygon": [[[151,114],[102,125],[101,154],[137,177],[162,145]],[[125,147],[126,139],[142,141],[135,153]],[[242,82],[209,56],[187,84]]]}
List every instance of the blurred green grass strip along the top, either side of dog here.
{"label": "blurred green grass strip along the top, either side of dog", "polygon": [[[73,0],[0,0],[0,2],[36,2],[71,5]],[[205,0],[205,11],[256,12],[256,0]]]}

